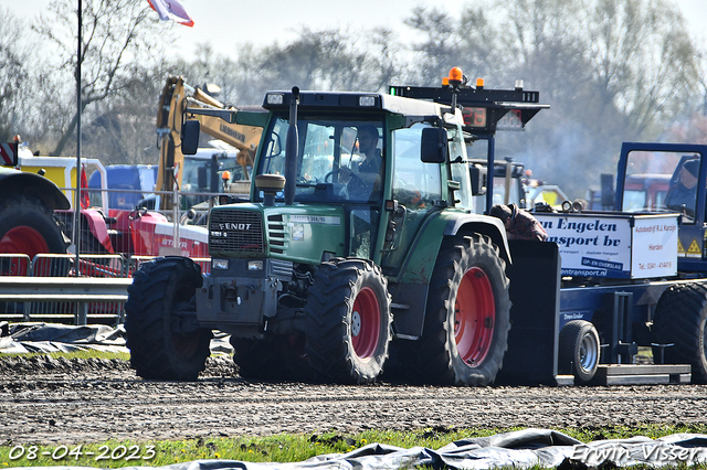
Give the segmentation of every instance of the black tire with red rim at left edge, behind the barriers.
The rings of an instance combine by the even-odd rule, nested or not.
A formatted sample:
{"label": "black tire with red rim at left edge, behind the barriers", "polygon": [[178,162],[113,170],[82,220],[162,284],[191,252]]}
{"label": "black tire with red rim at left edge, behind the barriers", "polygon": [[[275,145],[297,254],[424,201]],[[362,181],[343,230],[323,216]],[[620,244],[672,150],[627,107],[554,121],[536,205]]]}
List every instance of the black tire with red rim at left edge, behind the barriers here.
{"label": "black tire with red rim at left edge, behind the barriers", "polygon": [[30,259],[38,253],[66,253],[66,241],[52,210],[31,197],[1,197],[0,253],[24,253]]}

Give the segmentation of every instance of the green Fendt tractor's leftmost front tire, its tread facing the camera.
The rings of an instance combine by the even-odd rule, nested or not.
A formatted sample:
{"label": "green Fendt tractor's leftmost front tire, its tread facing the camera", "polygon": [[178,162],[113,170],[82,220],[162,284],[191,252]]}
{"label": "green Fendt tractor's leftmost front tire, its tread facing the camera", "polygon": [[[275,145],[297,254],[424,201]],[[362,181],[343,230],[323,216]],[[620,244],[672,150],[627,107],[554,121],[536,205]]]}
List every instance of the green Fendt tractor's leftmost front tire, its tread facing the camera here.
{"label": "green Fendt tractor's leftmost front tire, its tread facing the camera", "polygon": [[[190,258],[157,258],[133,276],[125,305],[130,365],[147,380],[196,381],[210,355],[211,330],[180,330],[194,312],[201,269]],[[196,319],[194,319],[196,320]],[[183,328],[183,327],[182,327]]]}

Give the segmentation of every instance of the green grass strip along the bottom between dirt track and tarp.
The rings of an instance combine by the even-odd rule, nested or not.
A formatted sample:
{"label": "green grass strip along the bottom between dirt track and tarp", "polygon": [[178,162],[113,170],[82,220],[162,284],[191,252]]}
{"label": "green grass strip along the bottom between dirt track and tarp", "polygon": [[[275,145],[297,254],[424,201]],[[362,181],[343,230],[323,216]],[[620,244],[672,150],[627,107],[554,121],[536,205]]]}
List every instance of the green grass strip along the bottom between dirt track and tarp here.
{"label": "green grass strip along the bottom between dirt track and tarp", "polygon": [[[411,448],[439,449],[460,439],[493,436],[523,428],[425,428],[416,431],[367,430],[345,435],[338,432],[274,435],[267,437],[198,437],[178,441],[108,440],[86,445],[32,446],[4,442],[0,446],[0,468],[10,467],[161,467],[193,460],[239,460],[246,462],[298,462],[326,453],[345,453],[368,444],[379,442]],[[639,425],[557,429],[583,442],[621,439],[633,436],[659,438],[678,432],[707,434],[707,425]],[[707,464],[693,469],[704,470]]]}

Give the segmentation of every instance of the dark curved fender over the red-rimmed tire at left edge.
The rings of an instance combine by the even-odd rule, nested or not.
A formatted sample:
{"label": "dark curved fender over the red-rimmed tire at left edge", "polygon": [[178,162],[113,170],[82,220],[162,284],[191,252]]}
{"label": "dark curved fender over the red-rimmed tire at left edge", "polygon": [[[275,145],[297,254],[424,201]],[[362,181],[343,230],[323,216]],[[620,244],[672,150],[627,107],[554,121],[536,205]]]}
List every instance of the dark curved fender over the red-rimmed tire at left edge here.
{"label": "dark curved fender over the red-rimmed tire at left edge", "polygon": [[68,199],[53,181],[35,173],[27,173],[10,168],[0,168],[0,194],[19,194],[39,200],[52,210],[71,207]]}

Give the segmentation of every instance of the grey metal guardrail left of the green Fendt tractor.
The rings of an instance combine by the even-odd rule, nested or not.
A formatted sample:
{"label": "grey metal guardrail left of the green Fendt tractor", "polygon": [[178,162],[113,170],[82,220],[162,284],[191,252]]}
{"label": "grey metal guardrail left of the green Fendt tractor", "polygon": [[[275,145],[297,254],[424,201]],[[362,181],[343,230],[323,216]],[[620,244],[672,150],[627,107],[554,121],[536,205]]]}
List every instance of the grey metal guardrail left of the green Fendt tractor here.
{"label": "grey metal guardrail left of the green Fendt tractor", "polygon": [[[130,278],[0,276],[0,306],[14,306],[13,313],[0,313],[0,318],[22,317],[22,321],[30,321],[39,312],[43,319],[73,317],[74,324],[86,324],[91,314],[122,323],[130,284]],[[63,313],[42,313],[38,305],[43,302],[57,302],[67,309]],[[98,307],[98,311],[91,307]]]}

